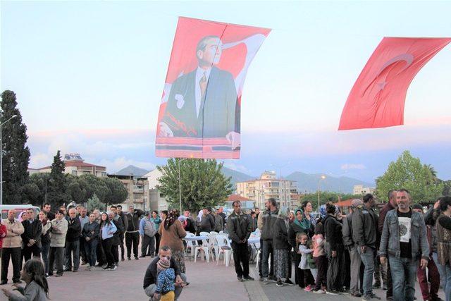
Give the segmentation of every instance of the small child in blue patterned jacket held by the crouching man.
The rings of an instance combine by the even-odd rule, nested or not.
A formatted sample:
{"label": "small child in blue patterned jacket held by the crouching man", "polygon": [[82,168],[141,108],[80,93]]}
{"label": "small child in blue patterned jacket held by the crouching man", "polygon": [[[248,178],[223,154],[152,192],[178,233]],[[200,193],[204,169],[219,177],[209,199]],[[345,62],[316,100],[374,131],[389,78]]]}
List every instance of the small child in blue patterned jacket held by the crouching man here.
{"label": "small child in blue patterned jacket held by the crouching man", "polygon": [[156,291],[161,295],[161,301],[174,301],[175,271],[171,269],[171,261],[163,257],[156,264]]}

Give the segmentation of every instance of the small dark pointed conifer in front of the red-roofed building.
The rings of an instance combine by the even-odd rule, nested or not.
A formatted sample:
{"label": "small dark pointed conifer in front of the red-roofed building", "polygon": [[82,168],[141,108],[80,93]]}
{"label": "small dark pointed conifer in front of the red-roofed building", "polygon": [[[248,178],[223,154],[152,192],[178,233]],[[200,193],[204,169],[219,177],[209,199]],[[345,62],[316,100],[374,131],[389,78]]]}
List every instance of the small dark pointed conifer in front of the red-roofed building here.
{"label": "small dark pointed conifer in front of the red-roofed building", "polygon": [[49,181],[47,183],[47,202],[51,207],[60,207],[62,204],[70,202],[66,194],[67,180],[64,174],[64,161],[61,160],[61,152],[58,150],[51,164]]}

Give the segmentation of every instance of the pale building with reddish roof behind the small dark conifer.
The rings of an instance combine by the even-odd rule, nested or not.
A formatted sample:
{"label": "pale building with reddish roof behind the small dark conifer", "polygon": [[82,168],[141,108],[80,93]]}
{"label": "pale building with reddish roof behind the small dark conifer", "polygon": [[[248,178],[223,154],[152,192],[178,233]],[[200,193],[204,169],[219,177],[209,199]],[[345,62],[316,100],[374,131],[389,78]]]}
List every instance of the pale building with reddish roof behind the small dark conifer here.
{"label": "pale building with reddish roof behind the small dark conifer", "polygon": [[[81,175],[94,175],[97,177],[106,177],[106,167],[95,164],[90,164],[82,159],[80,154],[65,154],[64,161],[64,173],[71,174],[73,176]],[[51,166],[45,166],[42,168],[28,168],[28,173],[50,173]]]}

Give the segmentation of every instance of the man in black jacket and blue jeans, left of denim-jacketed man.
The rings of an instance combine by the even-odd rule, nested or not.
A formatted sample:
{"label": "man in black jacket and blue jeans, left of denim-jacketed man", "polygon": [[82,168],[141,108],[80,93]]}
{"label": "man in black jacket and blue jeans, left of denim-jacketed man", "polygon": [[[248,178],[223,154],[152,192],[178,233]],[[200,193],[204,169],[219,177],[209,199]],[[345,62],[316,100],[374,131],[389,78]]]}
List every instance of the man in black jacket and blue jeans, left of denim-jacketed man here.
{"label": "man in black jacket and blue jeans, left of denim-jacketed man", "polygon": [[374,259],[378,240],[378,216],[373,211],[376,203],[371,193],[364,195],[363,201],[352,214],[352,240],[357,245],[357,252],[365,265],[362,300],[381,300],[373,293]]}

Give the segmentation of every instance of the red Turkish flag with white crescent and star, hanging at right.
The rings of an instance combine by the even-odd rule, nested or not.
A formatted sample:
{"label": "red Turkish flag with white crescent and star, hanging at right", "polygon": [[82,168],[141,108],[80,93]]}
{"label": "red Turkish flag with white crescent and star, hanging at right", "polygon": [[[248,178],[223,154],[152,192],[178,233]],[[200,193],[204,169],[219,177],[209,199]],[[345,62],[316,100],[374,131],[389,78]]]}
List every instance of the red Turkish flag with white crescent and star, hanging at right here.
{"label": "red Turkish flag with white crescent and star, hanging at right", "polygon": [[450,38],[384,37],[347,97],[338,130],[404,124],[410,82],[450,42]]}

